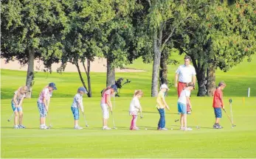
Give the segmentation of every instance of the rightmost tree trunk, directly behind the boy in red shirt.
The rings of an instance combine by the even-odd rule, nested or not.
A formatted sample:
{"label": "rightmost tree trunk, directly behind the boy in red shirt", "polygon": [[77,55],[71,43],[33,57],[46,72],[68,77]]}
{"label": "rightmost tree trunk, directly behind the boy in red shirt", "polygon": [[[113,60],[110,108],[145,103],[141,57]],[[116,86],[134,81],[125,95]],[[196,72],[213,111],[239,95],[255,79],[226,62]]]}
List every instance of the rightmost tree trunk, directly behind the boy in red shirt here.
{"label": "rightmost tree trunk, directly behind the boy in red shirt", "polygon": [[215,63],[210,63],[207,68],[207,96],[213,96],[215,89]]}

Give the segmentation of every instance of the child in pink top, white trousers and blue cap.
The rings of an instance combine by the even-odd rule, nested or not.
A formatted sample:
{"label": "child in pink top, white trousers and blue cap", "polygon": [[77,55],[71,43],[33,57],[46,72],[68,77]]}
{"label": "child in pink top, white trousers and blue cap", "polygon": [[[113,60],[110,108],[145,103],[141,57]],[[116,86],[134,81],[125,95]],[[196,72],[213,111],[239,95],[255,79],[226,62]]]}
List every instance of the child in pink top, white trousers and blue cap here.
{"label": "child in pink top, white trousers and blue cap", "polygon": [[110,107],[110,111],[112,112],[112,104],[111,104],[111,95],[114,95],[114,92],[117,92],[117,85],[111,85],[108,88],[105,88],[102,93],[102,98],[100,102],[101,109],[103,111],[103,130],[111,130],[108,127],[108,107]]}

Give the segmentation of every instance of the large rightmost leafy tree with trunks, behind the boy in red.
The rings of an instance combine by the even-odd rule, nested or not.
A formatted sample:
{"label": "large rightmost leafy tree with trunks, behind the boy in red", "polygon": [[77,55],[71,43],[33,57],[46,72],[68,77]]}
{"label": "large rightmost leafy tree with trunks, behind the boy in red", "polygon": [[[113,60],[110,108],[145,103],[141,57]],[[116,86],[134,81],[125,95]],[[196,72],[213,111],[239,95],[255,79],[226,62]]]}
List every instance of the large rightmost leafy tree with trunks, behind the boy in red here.
{"label": "large rightmost leafy tree with trunks, behind the boy in red", "polygon": [[[215,69],[228,71],[255,51],[255,1],[200,1],[195,18],[188,21],[192,33],[182,35],[181,46],[193,59],[198,79],[198,96],[215,90]],[[192,11],[191,11],[192,12]]]}

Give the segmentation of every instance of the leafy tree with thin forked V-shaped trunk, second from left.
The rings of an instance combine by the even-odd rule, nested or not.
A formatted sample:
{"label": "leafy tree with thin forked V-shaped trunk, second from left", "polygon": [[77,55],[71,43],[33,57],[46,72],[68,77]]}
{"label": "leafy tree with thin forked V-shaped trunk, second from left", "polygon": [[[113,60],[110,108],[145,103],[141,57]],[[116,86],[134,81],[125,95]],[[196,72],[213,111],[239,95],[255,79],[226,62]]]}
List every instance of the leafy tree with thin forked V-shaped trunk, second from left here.
{"label": "leafy tree with thin forked V-shaped trunk, second from left", "polygon": [[94,57],[103,57],[103,42],[106,37],[102,27],[113,18],[111,1],[69,1],[69,4],[66,4],[66,14],[69,22],[65,38],[62,40],[64,52],[61,57],[62,67],[59,70],[64,71],[67,62],[74,64],[83,87],[87,90],[79,65],[82,63],[89,87],[87,96],[91,97],[90,63]]}

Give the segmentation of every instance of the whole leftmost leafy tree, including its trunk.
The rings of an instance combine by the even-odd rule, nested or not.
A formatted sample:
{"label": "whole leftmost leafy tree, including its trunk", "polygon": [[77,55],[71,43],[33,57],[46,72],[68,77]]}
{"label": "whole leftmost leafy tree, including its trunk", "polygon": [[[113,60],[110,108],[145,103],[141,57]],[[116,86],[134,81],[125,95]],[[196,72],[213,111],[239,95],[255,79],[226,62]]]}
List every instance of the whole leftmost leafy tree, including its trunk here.
{"label": "whole leftmost leafy tree, including its trunk", "polygon": [[27,97],[32,93],[34,60],[43,60],[50,68],[61,56],[65,23],[59,1],[1,1],[1,57],[28,64]]}

